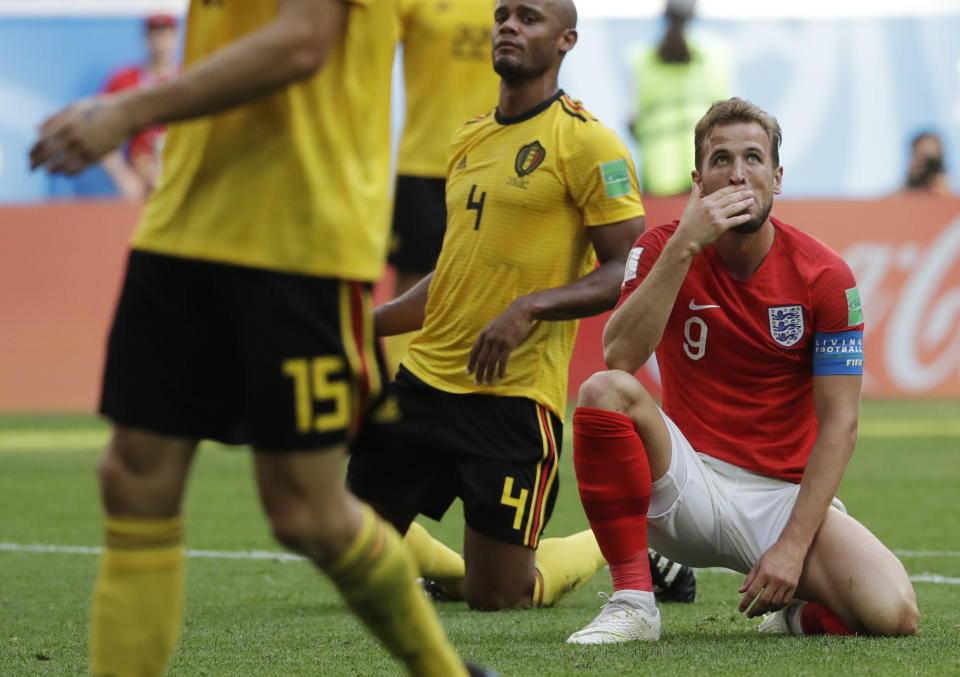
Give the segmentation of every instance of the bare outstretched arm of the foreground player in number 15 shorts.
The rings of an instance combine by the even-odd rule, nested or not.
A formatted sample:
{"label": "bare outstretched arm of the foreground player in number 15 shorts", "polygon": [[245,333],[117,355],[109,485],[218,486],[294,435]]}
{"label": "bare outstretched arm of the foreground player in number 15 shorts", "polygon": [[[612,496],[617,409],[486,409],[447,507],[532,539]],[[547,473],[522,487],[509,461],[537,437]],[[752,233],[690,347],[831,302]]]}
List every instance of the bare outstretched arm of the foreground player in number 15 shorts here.
{"label": "bare outstretched arm of the foreground player in number 15 shorts", "polygon": [[75,174],[151,125],[219,113],[313,75],[346,27],[346,0],[278,0],[277,16],[185,70],[83,99],[40,128],[31,168]]}

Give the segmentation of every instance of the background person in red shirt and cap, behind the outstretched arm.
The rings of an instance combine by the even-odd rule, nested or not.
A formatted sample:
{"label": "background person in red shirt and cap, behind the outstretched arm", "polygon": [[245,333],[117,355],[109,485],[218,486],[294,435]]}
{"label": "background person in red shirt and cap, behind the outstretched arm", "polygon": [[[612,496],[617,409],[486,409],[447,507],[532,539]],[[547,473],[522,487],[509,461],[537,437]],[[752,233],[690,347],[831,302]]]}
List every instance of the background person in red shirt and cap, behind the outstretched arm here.
{"label": "background person in red shirt and cap, behind the outstretched arm", "polygon": [[[149,60],[114,71],[103,91],[144,87],[177,74],[177,19],[169,14],[152,14],[144,20]],[[156,182],[160,168],[164,127],[148,127],[137,133],[123,149],[103,158],[103,168],[117,191],[127,200],[142,200]]]}

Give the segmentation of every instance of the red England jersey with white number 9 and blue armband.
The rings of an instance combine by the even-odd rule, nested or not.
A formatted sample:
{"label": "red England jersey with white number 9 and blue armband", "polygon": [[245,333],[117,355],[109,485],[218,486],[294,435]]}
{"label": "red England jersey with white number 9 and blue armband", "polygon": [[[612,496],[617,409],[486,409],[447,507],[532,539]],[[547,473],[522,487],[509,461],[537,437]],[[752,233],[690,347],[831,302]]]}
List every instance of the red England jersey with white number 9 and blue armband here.
{"label": "red England jersey with white number 9 and blue armband", "polygon": [[[773,245],[748,280],[713,246],[690,266],[657,346],[663,410],[697,451],[799,482],[817,436],[814,374],[863,370],[863,316],[849,266],[771,219]],[[678,222],[641,235],[620,303],[640,285]]]}

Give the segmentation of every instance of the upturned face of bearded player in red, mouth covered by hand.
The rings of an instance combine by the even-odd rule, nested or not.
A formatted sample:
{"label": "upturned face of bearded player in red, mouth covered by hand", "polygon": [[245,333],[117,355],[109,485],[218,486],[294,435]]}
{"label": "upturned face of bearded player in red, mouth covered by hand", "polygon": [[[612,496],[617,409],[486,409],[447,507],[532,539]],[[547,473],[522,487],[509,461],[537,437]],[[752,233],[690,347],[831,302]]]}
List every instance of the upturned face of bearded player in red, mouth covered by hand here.
{"label": "upturned face of bearded player in red, mouth covered by hand", "polygon": [[704,195],[725,186],[744,186],[753,191],[747,209],[750,220],[733,228],[754,233],[770,216],[773,196],[780,194],[783,167],[774,166],[770,137],[756,122],[736,122],[714,127],[703,142],[703,166],[694,171]]}

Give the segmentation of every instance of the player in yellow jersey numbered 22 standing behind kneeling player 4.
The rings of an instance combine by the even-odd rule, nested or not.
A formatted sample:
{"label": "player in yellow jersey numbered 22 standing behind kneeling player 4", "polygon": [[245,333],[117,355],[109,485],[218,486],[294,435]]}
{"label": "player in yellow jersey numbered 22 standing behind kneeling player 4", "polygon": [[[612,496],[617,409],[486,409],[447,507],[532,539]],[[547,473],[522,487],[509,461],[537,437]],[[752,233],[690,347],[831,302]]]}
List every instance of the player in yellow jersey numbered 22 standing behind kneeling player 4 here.
{"label": "player in yellow jersey numbered 22 standing behind kneeling player 4", "polygon": [[[393,243],[394,296],[437,264],[447,223],[444,183],[450,137],[497,102],[490,68],[496,0],[399,0],[406,115],[397,151]],[[391,371],[413,334],[387,342]]]}

